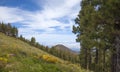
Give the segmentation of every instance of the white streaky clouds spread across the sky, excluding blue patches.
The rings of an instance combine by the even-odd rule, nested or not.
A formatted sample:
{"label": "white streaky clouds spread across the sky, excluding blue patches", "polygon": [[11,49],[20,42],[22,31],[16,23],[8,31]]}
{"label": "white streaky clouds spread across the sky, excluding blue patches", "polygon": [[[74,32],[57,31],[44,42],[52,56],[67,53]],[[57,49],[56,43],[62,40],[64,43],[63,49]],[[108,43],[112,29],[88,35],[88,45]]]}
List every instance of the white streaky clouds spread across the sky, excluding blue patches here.
{"label": "white streaky clouds spread across the sky, excluding blue patches", "polygon": [[[0,20],[10,23],[19,22],[25,26],[24,28],[19,28],[19,32],[26,38],[35,36],[39,42],[48,42],[51,45],[63,43],[71,48],[79,47],[77,43],[75,44],[75,35],[55,34],[58,31],[51,27],[58,26],[63,33],[67,33],[68,29],[66,30],[66,27],[69,27],[70,32],[74,24],[73,19],[75,19],[80,10],[80,0],[36,0],[36,4],[41,6],[41,1],[43,9],[34,12],[22,10],[18,7],[0,6]],[[68,22],[58,21],[57,19],[60,18],[66,18]],[[36,30],[44,30],[44,33]],[[66,41],[74,43],[69,44]]]}

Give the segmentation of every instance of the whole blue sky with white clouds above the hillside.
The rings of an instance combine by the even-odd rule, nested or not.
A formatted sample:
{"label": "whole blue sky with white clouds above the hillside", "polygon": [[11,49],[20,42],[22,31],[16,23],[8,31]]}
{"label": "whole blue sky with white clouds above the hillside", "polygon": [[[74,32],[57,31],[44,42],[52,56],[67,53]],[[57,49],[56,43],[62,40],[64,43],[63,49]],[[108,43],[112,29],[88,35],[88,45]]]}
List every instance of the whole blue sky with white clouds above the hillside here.
{"label": "whole blue sky with white clouds above the hillside", "polygon": [[0,0],[0,21],[11,23],[26,39],[45,46],[63,44],[79,50],[72,33],[80,0]]}

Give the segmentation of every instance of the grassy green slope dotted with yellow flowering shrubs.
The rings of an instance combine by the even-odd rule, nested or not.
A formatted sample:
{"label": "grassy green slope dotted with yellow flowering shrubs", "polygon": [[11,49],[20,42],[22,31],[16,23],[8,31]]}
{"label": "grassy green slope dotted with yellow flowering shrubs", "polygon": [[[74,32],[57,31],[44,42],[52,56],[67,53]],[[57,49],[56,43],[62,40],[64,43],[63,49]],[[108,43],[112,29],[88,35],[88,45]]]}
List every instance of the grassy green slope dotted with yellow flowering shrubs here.
{"label": "grassy green slope dotted with yellow flowering shrubs", "polygon": [[0,72],[83,72],[29,44],[0,33]]}

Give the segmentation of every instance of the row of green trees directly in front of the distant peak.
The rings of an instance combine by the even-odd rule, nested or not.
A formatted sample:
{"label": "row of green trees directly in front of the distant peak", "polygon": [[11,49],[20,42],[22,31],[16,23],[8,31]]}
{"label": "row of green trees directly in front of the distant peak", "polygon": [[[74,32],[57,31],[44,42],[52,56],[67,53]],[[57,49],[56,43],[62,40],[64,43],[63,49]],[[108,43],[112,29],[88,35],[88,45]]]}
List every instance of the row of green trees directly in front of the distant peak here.
{"label": "row of green trees directly in front of the distant peak", "polygon": [[49,53],[63,60],[70,61],[72,63],[79,63],[78,54],[71,53],[70,51],[66,51],[66,50],[57,49],[56,46],[50,48]]}

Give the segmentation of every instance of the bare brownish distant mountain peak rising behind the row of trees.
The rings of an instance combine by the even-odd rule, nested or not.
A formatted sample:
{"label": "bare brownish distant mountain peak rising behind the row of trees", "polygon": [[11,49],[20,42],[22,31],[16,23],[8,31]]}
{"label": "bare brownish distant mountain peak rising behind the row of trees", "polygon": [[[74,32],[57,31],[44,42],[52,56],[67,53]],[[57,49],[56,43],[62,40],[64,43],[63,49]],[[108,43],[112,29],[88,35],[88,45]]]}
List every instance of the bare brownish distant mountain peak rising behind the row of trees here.
{"label": "bare brownish distant mountain peak rising behind the row of trees", "polygon": [[54,46],[55,49],[57,50],[60,50],[60,51],[63,51],[63,52],[69,52],[69,53],[72,53],[72,54],[78,54],[79,52],[77,51],[73,51],[72,49],[62,45],[62,44],[58,44],[56,46]]}

